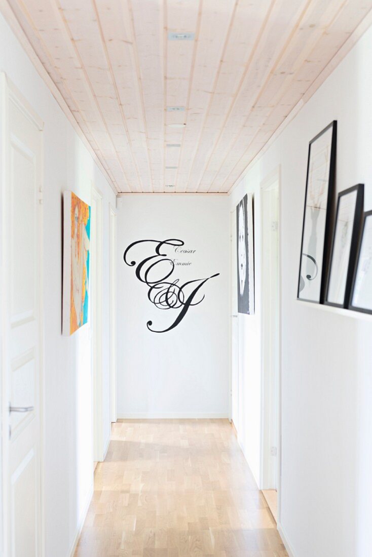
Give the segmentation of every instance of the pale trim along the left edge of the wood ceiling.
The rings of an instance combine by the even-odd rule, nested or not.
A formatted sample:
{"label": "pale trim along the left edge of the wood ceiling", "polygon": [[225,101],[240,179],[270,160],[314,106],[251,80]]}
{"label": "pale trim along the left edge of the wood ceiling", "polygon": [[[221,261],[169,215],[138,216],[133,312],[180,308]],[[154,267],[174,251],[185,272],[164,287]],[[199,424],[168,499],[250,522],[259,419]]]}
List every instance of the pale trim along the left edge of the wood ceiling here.
{"label": "pale trim along the left edge of the wood ceiling", "polygon": [[100,162],[98,156],[94,152],[93,147],[90,145],[88,139],[86,139],[83,130],[81,130],[79,124],[74,118],[73,113],[69,109],[64,97],[62,97],[58,87],[55,85],[54,81],[51,79],[50,75],[46,71],[45,67],[42,65],[40,58],[37,56],[35,50],[28,40],[25,31],[23,31],[20,22],[16,18],[15,14],[13,13],[12,8],[9,6],[7,0],[0,0],[0,12],[2,13],[4,19],[8,23],[9,27],[15,34],[17,40],[20,42],[23,50],[26,52],[27,56],[30,58],[33,66],[35,67],[38,75],[40,75],[41,79],[44,81],[47,88],[50,90],[51,94],[54,96],[55,100],[59,104],[60,108],[62,109],[63,113],[65,114],[67,120],[69,120],[70,124],[73,126],[74,131],[78,134],[81,141],[83,141],[84,146],[88,149],[89,154],[93,158],[95,164],[99,168],[99,170],[104,175],[104,178],[110,185],[110,188],[113,190],[115,196],[118,194],[118,189],[114,186],[112,179],[109,177],[107,170],[104,168],[103,164]]}

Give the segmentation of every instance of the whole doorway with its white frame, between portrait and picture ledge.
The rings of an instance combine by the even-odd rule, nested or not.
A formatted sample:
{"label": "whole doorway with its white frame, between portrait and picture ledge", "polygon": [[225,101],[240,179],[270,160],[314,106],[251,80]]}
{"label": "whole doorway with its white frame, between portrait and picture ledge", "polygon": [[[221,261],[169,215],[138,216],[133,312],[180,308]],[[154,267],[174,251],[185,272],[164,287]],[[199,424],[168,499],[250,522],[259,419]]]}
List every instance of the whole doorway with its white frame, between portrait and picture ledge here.
{"label": "whole doorway with its white frame, between portrait and picture ledge", "polygon": [[278,521],[280,510],[280,175],[261,184],[262,428],[261,489]]}

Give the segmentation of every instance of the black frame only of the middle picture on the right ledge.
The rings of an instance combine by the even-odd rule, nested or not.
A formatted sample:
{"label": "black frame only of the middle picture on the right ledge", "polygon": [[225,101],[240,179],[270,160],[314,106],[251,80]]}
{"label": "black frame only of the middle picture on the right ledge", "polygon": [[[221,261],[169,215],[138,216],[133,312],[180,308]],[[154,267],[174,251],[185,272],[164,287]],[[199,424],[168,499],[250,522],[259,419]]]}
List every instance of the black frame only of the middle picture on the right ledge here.
{"label": "black frame only of the middle picture on the right ledge", "polygon": [[[339,216],[339,210],[340,210],[340,202],[341,202],[341,199],[343,197],[348,196],[352,192],[355,192],[355,191],[356,191],[355,212],[354,212],[354,219],[353,219],[352,232],[351,232],[349,263],[348,263],[348,266],[347,266],[346,284],[345,284],[345,291],[344,291],[344,301],[341,304],[338,304],[337,302],[328,301],[328,295],[330,294],[332,262],[333,262],[333,258],[334,258],[334,250],[335,250],[337,222],[338,222],[338,216]],[[342,192],[339,192],[339,195],[337,196],[336,218],[335,218],[334,233],[333,233],[333,238],[332,238],[332,249],[331,249],[331,256],[330,256],[330,264],[329,264],[328,275],[327,275],[326,297],[325,297],[325,301],[324,301],[325,305],[327,305],[327,306],[344,307],[346,309],[349,307],[350,296],[351,296],[351,287],[352,287],[352,279],[353,279],[353,276],[354,276],[357,249],[358,249],[359,237],[360,237],[360,231],[361,231],[361,224],[362,224],[362,221],[363,221],[363,208],[364,208],[364,184],[356,184],[356,185],[353,185],[351,188],[347,188],[347,189],[344,189]]]}

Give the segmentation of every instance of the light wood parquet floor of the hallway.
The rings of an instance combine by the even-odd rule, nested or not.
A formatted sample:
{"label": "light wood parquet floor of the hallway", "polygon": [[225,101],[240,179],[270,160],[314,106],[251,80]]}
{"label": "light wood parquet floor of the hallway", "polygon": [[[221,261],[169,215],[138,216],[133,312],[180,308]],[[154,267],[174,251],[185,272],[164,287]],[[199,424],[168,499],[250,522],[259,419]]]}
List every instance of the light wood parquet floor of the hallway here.
{"label": "light wood parquet floor of the hallway", "polygon": [[227,420],[120,420],[75,557],[287,557]]}

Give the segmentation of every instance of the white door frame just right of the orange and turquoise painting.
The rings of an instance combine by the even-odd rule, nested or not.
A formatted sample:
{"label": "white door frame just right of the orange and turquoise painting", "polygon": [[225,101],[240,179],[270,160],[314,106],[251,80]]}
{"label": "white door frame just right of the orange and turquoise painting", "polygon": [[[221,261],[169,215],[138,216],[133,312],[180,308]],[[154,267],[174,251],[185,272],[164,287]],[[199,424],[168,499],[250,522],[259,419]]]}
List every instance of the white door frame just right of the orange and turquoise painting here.
{"label": "white door frame just right of the orange and turquoise painting", "polygon": [[103,310],[103,213],[102,195],[91,184],[91,288],[90,337],[92,370],[93,462],[104,460],[103,441],[103,370],[102,370],[102,310]]}

